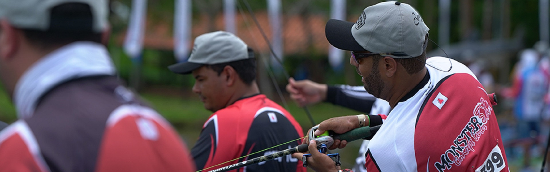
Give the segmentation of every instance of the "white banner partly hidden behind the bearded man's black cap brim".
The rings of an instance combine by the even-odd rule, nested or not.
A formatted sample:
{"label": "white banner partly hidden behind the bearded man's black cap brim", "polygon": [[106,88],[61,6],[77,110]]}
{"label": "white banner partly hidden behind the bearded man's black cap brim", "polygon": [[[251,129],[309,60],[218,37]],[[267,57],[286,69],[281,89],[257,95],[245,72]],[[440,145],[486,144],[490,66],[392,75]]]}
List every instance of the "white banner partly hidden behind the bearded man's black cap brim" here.
{"label": "white banner partly hidden behind the bearded man's black cap brim", "polygon": [[[332,0],[331,1],[331,19],[338,19],[346,21],[345,17],[345,0]],[[342,66],[344,58],[344,51],[337,49],[336,47],[329,45],[328,47],[328,63],[332,68],[338,68]]]}

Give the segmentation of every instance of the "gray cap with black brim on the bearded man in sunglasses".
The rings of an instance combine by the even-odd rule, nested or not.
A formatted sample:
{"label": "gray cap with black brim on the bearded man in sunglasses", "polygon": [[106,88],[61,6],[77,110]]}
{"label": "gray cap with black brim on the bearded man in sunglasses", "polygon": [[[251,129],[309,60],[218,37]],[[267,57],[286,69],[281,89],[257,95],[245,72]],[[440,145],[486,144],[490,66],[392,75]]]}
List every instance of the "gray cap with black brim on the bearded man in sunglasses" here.
{"label": "gray cap with black brim on the bearded man in sunglasses", "polygon": [[383,56],[410,58],[426,50],[428,30],[409,4],[387,1],[365,8],[355,23],[328,20],[325,35],[338,49],[395,53]]}

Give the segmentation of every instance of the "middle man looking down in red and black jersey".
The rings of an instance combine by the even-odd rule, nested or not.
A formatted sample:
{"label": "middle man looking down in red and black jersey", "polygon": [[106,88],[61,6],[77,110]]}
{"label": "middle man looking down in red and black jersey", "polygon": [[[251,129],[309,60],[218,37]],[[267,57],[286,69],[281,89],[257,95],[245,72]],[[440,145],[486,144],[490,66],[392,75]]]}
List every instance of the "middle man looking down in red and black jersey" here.
{"label": "middle man looking down in red and black jersey", "polygon": [[[277,146],[303,137],[302,128],[287,110],[260,94],[254,52],[232,33],[215,31],[196,37],[189,60],[168,68],[179,74],[193,74],[193,92],[213,112],[191,149],[197,169],[221,168],[300,143]],[[273,146],[277,147],[270,148]],[[240,170],[306,169],[288,155],[233,171]]]}

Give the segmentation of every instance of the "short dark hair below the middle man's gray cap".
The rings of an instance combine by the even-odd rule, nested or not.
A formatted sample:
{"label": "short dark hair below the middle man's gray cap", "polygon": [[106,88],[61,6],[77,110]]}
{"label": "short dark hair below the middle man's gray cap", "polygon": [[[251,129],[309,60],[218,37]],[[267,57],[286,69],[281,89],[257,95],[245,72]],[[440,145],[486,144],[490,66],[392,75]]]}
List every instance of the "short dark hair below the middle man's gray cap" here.
{"label": "short dark hair below the middle man's gray cap", "polygon": [[252,57],[245,60],[208,65],[207,67],[216,71],[219,76],[220,74],[222,74],[224,67],[231,66],[233,67],[233,69],[235,69],[237,74],[239,74],[239,78],[243,80],[246,85],[251,85],[252,82],[254,82],[254,80],[256,79],[256,58],[254,58],[254,51],[252,51],[252,49],[248,49],[248,51],[249,56]]}

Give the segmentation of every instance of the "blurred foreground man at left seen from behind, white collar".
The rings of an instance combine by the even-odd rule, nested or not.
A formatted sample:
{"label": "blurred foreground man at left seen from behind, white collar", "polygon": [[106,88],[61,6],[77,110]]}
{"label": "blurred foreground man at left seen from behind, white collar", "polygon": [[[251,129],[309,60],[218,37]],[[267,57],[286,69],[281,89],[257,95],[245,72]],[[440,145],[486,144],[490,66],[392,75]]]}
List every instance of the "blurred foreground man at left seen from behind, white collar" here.
{"label": "blurred foreground man at left seen from behind, white collar", "polygon": [[115,76],[106,0],[0,0],[0,80],[19,120],[0,171],[195,171],[163,117]]}

